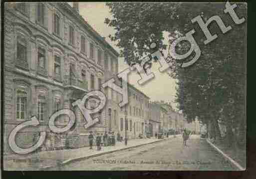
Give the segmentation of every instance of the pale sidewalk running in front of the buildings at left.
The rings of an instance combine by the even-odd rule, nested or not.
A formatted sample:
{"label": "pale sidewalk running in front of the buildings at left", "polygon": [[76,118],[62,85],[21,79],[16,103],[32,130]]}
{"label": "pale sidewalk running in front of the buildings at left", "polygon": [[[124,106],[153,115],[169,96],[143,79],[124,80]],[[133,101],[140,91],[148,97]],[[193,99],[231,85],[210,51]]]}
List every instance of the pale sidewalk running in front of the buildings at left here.
{"label": "pale sidewalk running in front of the buildings at left", "polygon": [[[179,135],[176,135],[176,137],[178,136]],[[163,140],[169,140],[172,138],[173,136],[169,136],[169,138],[165,139],[155,139],[153,137],[151,139],[133,139],[128,140],[127,146],[124,145],[124,142],[117,142],[115,146],[102,147],[101,151],[97,151],[96,146],[93,146],[93,150],[90,150],[89,147],[84,147],[79,149],[43,151],[28,155],[3,156],[3,167],[4,170],[9,171],[46,170],[47,168],[65,165],[90,157],[95,157],[146,144],[156,143]]]}

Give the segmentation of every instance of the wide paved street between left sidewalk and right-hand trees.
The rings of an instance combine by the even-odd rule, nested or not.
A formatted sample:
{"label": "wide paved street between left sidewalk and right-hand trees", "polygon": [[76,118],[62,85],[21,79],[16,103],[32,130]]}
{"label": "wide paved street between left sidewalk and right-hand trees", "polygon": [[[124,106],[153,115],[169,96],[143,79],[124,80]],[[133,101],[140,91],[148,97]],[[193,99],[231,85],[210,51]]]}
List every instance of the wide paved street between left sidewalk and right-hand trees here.
{"label": "wide paved street between left sidewalk and right-hand trees", "polygon": [[49,170],[211,170],[234,169],[205,140],[192,135],[188,146],[182,137],[51,168]]}

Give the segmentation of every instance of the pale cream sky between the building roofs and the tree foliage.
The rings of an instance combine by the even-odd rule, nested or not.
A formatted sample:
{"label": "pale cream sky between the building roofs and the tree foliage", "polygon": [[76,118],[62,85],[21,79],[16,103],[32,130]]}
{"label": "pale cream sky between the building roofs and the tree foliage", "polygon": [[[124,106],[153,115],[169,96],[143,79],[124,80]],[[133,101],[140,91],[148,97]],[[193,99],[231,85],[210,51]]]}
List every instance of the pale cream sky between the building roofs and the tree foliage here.
{"label": "pale cream sky between the building roofs and the tree foliage", "polygon": [[[72,2],[68,2],[72,6]],[[112,18],[110,9],[105,5],[105,2],[79,2],[79,13],[80,15],[103,37],[105,40],[116,50],[120,49],[112,42],[108,37],[109,34],[114,34],[115,30],[104,23],[106,17]],[[168,42],[168,33],[164,33],[165,40]],[[124,63],[123,58],[118,59],[119,72],[128,67]],[[176,108],[175,94],[176,94],[176,80],[172,79],[166,73],[160,73],[158,68],[160,68],[159,63],[153,63],[152,72],[155,78],[150,80],[145,85],[141,86],[137,83],[140,76],[134,71],[129,75],[129,83],[133,84],[137,89],[141,90],[147,96],[150,97],[151,101],[161,101],[171,102],[172,106]]]}

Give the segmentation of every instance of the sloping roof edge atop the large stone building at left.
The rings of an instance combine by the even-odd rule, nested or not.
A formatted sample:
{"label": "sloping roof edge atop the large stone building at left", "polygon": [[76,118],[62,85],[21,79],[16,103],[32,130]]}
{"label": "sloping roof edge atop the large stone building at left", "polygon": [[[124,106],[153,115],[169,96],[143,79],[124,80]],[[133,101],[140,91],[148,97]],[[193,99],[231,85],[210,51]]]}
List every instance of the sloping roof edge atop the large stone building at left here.
{"label": "sloping roof edge atop the large stone building at left", "polygon": [[69,5],[67,2],[62,2],[61,3],[62,6],[64,8],[66,8],[67,10],[69,10],[71,13],[74,14],[74,16],[77,17],[78,20],[80,20],[80,22],[85,26],[85,28],[89,31],[89,33],[91,33],[91,35],[93,35],[98,41],[100,41],[101,43],[103,43],[104,45],[107,46],[107,48],[114,53],[116,56],[119,56],[119,53],[96,31],[92,28],[92,26],[90,24],[88,24],[84,18],[79,14],[79,12],[77,12],[73,7],[71,7],[71,5]]}

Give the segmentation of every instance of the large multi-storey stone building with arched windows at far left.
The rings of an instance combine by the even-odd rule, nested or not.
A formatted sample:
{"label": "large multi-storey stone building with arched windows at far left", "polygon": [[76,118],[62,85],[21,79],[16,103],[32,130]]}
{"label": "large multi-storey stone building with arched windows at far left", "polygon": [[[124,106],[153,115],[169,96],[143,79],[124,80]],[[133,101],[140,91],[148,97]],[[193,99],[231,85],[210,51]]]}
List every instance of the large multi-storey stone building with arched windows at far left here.
{"label": "large multi-storey stone building with arched windows at far left", "polygon": [[[7,139],[18,124],[36,116],[39,127],[26,127],[17,134],[17,145],[30,147],[40,131],[46,144],[60,137],[48,129],[51,114],[71,108],[76,115],[72,128],[73,147],[85,146],[89,130],[103,132],[118,128],[117,93],[104,89],[109,99],[98,113],[100,121],[84,129],[85,120],[71,103],[117,73],[118,53],[80,15],[78,3],[5,3],[4,8],[4,153]],[[114,94],[113,94],[114,93]],[[114,118],[113,118],[114,116]],[[66,117],[56,119],[65,126]],[[71,134],[60,134],[67,139]],[[72,136],[71,135],[71,136]],[[71,144],[72,143],[72,144]],[[49,147],[49,146],[48,146]]]}

